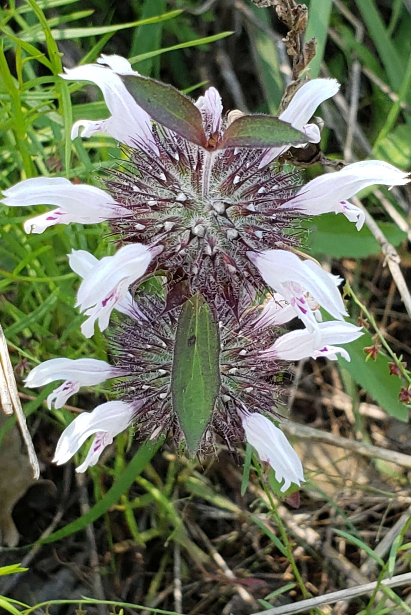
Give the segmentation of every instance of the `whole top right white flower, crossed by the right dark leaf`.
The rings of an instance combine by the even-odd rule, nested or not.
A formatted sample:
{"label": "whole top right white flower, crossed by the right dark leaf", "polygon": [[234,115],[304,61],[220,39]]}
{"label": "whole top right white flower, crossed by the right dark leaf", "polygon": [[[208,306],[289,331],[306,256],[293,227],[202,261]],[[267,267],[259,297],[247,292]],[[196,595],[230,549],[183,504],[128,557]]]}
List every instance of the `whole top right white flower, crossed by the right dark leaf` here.
{"label": "whole top right white flower, crossed by the right dark leaf", "polygon": [[[337,94],[339,89],[340,84],[336,79],[312,79],[311,81],[306,81],[295,92],[287,109],[279,115],[279,119],[289,122],[295,129],[304,132],[309,143],[319,143],[321,140],[319,128],[316,124],[308,124],[308,122],[313,117],[317,107],[324,103],[324,100],[327,100],[327,98],[332,98]],[[287,145],[268,149],[260,162],[259,168],[265,167],[274,158],[284,154],[287,149],[289,149]]]}

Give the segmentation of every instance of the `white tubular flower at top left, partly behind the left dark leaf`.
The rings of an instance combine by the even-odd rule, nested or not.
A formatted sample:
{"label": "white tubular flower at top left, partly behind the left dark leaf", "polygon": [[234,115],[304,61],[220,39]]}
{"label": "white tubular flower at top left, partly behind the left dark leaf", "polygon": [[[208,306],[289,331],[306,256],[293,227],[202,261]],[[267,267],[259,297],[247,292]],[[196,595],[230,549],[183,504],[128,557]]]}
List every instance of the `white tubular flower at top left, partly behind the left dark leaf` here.
{"label": "white tubular flower at top left, partly behind the left dark leaf", "polygon": [[158,154],[153,142],[150,116],[137,105],[127,92],[120,75],[136,74],[128,60],[119,55],[101,55],[97,64],[85,64],[76,68],[65,68],[63,79],[70,81],[92,81],[103,92],[103,97],[111,116],[107,119],[92,121],[81,119],[71,129],[71,138],[90,137],[95,132],[106,132],[121,143],[135,147],[136,142],[144,149]]}

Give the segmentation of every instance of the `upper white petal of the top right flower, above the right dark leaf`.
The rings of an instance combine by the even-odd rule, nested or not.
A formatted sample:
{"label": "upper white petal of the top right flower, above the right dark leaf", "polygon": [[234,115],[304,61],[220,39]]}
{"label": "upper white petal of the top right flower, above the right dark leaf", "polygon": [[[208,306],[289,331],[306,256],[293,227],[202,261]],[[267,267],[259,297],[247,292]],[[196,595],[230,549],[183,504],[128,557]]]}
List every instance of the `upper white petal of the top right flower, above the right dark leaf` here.
{"label": "upper white petal of the top right flower, above the right dark leaf", "polygon": [[332,98],[340,89],[336,79],[311,79],[301,85],[290,100],[289,106],[283,111],[279,119],[289,122],[298,130],[313,117],[316,109],[324,100]]}

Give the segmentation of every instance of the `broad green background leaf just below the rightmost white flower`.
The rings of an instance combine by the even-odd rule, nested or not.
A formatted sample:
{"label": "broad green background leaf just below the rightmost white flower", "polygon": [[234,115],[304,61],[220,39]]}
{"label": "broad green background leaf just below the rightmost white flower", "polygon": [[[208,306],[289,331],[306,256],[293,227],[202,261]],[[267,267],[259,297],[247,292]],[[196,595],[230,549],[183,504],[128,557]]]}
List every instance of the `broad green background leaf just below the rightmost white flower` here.
{"label": "broad green background leaf just below the rightmost white flower", "polygon": [[[312,231],[308,242],[312,254],[327,254],[333,258],[365,258],[370,254],[378,254],[381,249],[366,226],[357,231],[355,224],[342,215],[324,213],[316,217],[314,224],[304,221],[302,226]],[[394,246],[407,238],[407,234],[396,224],[383,222],[378,226]]]}

